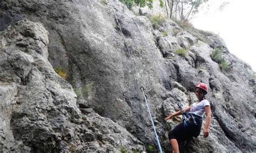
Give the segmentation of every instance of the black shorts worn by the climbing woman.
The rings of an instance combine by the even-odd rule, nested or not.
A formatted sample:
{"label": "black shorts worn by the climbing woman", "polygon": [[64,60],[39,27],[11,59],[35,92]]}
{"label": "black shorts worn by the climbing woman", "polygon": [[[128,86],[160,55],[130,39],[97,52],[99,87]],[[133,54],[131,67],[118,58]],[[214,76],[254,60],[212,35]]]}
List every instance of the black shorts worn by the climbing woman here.
{"label": "black shorts worn by the climbing woman", "polygon": [[192,137],[198,137],[201,132],[202,118],[200,116],[194,115],[194,119],[197,122],[197,125],[194,124],[192,117],[189,121],[186,121],[187,126],[184,127],[184,122],[181,122],[172,129],[168,135],[169,140],[176,139],[179,142],[184,142]]}

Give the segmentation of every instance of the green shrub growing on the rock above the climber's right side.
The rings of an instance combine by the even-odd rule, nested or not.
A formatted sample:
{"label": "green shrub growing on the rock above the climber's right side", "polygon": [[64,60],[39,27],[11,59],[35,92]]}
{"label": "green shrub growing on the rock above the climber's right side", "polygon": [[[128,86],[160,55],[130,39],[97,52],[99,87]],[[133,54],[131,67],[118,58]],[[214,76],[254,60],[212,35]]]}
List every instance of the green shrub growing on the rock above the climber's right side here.
{"label": "green shrub growing on the rock above the climber's right side", "polygon": [[227,61],[221,57],[222,54],[223,51],[221,51],[219,48],[214,48],[211,58],[213,61],[219,64],[221,71],[226,71],[227,69],[230,69],[230,64],[228,64]]}

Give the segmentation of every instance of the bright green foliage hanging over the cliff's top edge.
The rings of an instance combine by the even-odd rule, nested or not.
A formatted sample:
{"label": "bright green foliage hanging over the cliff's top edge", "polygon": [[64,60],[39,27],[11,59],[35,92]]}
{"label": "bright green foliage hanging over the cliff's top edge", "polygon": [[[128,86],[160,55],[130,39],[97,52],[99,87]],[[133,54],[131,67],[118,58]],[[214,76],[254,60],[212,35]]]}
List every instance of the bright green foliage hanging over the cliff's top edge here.
{"label": "bright green foliage hanging over the cliff's top edge", "polygon": [[140,8],[147,6],[150,9],[153,8],[153,0],[120,0],[120,2],[124,2],[127,8],[130,10],[133,6],[139,6]]}

